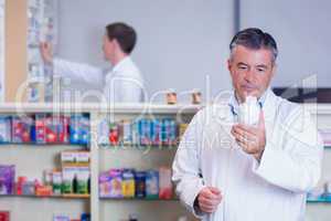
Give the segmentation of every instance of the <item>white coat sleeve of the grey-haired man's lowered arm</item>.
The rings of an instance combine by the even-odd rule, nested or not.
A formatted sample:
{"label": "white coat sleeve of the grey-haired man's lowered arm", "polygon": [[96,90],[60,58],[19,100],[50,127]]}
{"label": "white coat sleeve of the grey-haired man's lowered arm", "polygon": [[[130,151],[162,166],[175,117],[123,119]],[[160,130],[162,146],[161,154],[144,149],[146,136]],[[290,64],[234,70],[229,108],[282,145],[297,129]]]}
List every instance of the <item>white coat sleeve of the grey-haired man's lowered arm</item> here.
{"label": "white coat sleeve of the grey-haired man's lowered arm", "polygon": [[[202,126],[200,114],[195,116],[185,130],[172,164],[172,181],[177,183],[175,191],[181,202],[197,218],[205,215],[194,207],[194,200],[204,188],[200,177],[199,149]],[[201,130],[201,131],[200,131]]]}

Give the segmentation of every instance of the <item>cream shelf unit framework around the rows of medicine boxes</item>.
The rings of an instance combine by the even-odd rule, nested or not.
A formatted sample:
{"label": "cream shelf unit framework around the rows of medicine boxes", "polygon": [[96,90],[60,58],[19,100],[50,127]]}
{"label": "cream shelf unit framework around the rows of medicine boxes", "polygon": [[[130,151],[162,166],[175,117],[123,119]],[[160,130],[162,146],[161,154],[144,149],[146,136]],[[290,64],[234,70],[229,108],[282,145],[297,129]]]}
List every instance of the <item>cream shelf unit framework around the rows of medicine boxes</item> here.
{"label": "cream shelf unit framework around the rows of medicine boxes", "polygon": [[[313,120],[321,129],[331,128],[331,105],[306,105],[311,113]],[[107,199],[99,198],[98,176],[99,172],[110,168],[137,168],[151,169],[160,166],[171,166],[175,154],[175,146],[160,148],[136,148],[136,146],[99,146],[97,144],[97,123],[105,116],[109,116],[115,122],[118,119],[132,119],[137,116],[143,117],[173,117],[177,119],[190,120],[193,115],[201,109],[197,105],[152,105],[152,104],[115,104],[106,106],[102,104],[4,104],[0,106],[0,114],[23,114],[23,113],[87,113],[90,117],[92,141],[88,146],[90,150],[90,196],[58,196],[58,197],[33,197],[33,196],[1,196],[0,203],[4,209],[12,210],[13,220],[22,220],[20,213],[24,213],[24,219],[29,220],[52,220],[53,213],[67,213],[77,217],[82,212],[90,212],[93,221],[122,220],[128,214],[138,214],[139,220],[177,220],[180,215],[186,215],[189,220],[195,220],[185,209],[180,206],[175,198],[162,199]],[[30,171],[32,176],[42,169],[54,167],[54,155],[64,149],[86,148],[76,145],[1,145],[0,164],[19,165],[18,172]],[[331,149],[324,150],[323,178],[331,180]],[[35,155],[35,151],[39,155]],[[26,157],[29,156],[29,157]],[[30,157],[31,156],[31,157]],[[42,157],[40,157],[42,156]],[[26,158],[26,160],[22,160]],[[29,165],[30,161],[35,161]],[[28,162],[28,164],[26,164]],[[20,165],[23,165],[23,167]],[[308,200],[308,213],[319,210],[330,211],[329,202]],[[317,203],[323,202],[323,203]],[[25,207],[25,204],[29,204]],[[328,207],[323,207],[327,204]],[[20,209],[18,209],[20,208]],[[35,210],[41,214],[36,214]],[[169,212],[171,211],[171,212]],[[19,213],[19,214],[17,214]],[[31,213],[31,214],[29,214]],[[30,215],[30,217],[29,217]]]}

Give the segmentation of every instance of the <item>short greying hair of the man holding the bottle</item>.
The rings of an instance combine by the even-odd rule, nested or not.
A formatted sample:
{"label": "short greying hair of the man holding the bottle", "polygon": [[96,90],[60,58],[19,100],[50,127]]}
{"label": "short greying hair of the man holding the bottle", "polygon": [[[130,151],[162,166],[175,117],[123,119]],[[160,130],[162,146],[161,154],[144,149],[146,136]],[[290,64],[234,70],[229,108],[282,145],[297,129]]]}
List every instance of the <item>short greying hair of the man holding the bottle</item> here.
{"label": "short greying hair of the man holding the bottle", "polygon": [[231,53],[233,53],[234,48],[237,45],[243,45],[253,50],[270,50],[273,63],[276,62],[278,55],[277,43],[269,33],[263,32],[260,29],[249,28],[236,33],[229,43]]}

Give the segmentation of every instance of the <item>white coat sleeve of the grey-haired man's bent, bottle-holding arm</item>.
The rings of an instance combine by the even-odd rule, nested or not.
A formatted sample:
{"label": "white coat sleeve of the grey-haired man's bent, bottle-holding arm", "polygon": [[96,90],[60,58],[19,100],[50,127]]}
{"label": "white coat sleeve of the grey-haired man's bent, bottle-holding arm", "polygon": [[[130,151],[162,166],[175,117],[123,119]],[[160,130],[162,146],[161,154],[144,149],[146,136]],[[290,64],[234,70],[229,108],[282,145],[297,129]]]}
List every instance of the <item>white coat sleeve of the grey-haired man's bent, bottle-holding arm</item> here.
{"label": "white coat sleeve of the grey-haired man's bent, bottle-holding arm", "polygon": [[284,137],[267,140],[260,162],[253,170],[259,177],[293,192],[314,188],[321,176],[323,144],[310,114],[296,110],[279,127]]}

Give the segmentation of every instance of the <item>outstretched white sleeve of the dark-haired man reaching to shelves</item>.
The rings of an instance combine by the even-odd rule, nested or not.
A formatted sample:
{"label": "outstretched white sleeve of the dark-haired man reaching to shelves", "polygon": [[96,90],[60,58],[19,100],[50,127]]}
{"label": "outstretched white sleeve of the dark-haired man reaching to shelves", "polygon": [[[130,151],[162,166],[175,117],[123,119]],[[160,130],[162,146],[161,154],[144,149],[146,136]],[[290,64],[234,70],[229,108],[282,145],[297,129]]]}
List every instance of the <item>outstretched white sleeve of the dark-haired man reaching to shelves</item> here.
{"label": "outstretched white sleeve of the dark-haired man reaching to shelves", "polygon": [[53,71],[55,75],[70,77],[73,81],[81,81],[96,87],[102,86],[104,82],[104,71],[88,64],[74,63],[54,57]]}

